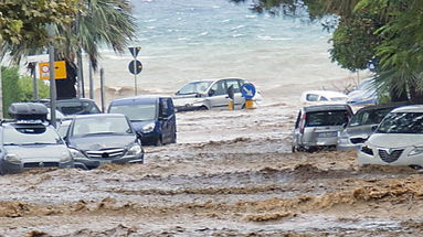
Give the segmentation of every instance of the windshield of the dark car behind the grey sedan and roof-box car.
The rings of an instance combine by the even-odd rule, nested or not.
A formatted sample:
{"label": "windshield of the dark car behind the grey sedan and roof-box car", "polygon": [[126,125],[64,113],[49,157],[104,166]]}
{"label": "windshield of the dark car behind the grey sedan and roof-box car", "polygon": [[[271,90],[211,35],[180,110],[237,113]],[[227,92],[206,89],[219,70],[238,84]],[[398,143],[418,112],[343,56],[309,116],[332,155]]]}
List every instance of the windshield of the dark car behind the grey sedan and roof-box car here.
{"label": "windshield of the dark car behind the grey sedan and roof-box car", "polygon": [[92,101],[61,101],[61,100],[57,100],[57,109],[63,115],[101,114],[98,107]]}

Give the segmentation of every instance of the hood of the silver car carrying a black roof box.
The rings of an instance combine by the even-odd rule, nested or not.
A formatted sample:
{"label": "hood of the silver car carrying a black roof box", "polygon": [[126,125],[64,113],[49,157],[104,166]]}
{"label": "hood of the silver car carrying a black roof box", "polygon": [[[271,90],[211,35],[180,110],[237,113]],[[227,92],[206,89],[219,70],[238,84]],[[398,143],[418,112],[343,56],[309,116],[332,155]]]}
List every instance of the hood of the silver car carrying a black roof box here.
{"label": "hood of the silver car carrying a black roof box", "polygon": [[68,152],[65,144],[36,144],[36,146],[4,146],[9,154],[17,154],[20,159],[54,159],[63,158]]}

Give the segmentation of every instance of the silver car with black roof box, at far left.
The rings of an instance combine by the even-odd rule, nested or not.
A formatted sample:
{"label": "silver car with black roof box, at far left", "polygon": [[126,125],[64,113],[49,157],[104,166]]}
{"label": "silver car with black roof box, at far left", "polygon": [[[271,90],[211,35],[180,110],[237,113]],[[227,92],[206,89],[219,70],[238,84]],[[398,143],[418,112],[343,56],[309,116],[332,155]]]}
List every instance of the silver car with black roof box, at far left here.
{"label": "silver car with black roof box, at far left", "polygon": [[0,173],[40,168],[73,168],[66,143],[46,122],[42,104],[17,103],[9,108],[14,120],[0,125]]}

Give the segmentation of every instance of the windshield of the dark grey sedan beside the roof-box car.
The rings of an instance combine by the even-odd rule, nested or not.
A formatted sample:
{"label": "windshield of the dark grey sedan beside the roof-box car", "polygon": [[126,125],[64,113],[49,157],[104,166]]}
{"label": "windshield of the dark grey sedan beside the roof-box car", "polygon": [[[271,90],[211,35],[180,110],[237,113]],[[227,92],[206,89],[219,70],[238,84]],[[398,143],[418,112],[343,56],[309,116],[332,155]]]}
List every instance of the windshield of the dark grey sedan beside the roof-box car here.
{"label": "windshield of the dark grey sedan beside the roof-box car", "polygon": [[128,133],[133,133],[133,130],[125,117],[76,118],[72,131],[73,136]]}

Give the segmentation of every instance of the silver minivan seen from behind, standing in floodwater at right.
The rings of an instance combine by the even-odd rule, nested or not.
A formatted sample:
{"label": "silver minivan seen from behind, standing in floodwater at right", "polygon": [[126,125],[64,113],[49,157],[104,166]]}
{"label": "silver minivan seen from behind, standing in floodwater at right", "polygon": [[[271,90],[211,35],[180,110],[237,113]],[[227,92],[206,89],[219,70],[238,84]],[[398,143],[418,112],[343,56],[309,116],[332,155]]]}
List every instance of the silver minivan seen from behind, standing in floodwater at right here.
{"label": "silver minivan seen from behind, standing in floodwater at right", "polygon": [[353,115],[348,105],[308,106],[299,110],[293,133],[293,152],[335,148],[338,132]]}

